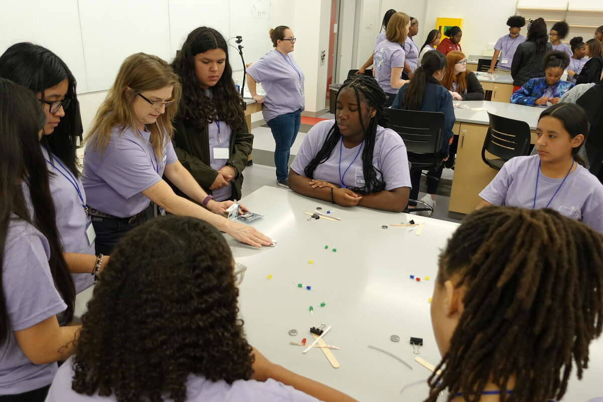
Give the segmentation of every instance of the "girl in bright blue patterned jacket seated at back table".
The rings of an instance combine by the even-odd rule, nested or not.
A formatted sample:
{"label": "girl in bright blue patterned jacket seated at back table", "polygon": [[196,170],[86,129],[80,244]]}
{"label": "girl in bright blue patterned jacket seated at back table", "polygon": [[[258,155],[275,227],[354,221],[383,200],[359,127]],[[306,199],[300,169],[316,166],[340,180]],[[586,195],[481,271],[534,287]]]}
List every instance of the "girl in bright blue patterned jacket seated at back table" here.
{"label": "girl in bright blue patterned jacket seated at back table", "polygon": [[569,66],[569,57],[560,51],[548,52],[543,64],[545,77],[532,78],[511,94],[511,103],[528,106],[545,106],[547,103],[557,104],[561,96],[572,89],[573,84],[561,80],[563,71]]}

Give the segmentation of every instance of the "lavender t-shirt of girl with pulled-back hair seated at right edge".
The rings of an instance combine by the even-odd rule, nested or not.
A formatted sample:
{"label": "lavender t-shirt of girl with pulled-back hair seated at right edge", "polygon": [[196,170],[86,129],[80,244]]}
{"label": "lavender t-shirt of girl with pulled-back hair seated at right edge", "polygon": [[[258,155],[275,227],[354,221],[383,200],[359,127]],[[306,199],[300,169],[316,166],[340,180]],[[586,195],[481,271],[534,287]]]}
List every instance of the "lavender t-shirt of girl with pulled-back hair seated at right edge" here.
{"label": "lavender t-shirt of girl with pulled-back hair seated at right edge", "polygon": [[[538,155],[510,159],[479,196],[490,204],[531,209],[539,161]],[[546,206],[562,181],[538,171],[536,208]],[[549,208],[603,233],[603,184],[580,165],[567,176]]]}

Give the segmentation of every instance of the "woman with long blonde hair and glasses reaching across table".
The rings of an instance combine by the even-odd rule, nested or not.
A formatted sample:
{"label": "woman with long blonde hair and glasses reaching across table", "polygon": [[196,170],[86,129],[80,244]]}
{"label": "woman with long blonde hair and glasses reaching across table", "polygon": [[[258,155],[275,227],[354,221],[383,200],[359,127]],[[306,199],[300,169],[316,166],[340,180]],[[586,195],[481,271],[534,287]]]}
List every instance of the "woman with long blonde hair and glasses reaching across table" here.
{"label": "woman with long blonde hair and glasses reaching across table", "polygon": [[[213,201],[178,161],[171,119],[179,100],[180,82],[168,63],[145,53],[124,60],[96,113],[84,154],[83,183],[98,253],[110,254],[119,237],[144,221],[151,201],[169,213],[204,219],[250,245],[271,244],[255,228],[221,216],[233,202]],[[175,195],[164,174],[202,206]]]}

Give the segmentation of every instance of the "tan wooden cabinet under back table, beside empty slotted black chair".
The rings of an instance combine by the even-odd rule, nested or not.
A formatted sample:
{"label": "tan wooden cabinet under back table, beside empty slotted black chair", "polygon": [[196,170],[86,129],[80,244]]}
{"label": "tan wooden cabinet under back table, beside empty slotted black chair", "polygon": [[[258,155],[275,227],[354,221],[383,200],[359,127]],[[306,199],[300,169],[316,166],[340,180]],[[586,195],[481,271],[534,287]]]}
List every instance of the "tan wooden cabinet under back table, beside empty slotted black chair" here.
{"label": "tan wooden cabinet under back table, beside empty slotted black chair", "polygon": [[479,192],[496,176],[497,171],[482,161],[487,131],[486,125],[461,123],[450,192],[452,212],[472,212],[480,201]]}

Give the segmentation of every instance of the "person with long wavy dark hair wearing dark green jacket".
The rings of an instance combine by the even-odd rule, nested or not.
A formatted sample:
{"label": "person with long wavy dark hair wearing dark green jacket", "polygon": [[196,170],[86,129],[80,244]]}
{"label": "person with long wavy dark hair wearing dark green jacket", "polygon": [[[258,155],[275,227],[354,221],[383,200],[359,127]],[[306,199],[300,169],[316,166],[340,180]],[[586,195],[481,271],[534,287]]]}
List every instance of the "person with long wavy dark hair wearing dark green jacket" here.
{"label": "person with long wavy dark hair wearing dark green jacket", "polygon": [[180,163],[216,201],[241,199],[253,135],[232,80],[226,40],[213,28],[197,28],[172,68],[182,83],[173,139]]}

